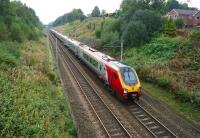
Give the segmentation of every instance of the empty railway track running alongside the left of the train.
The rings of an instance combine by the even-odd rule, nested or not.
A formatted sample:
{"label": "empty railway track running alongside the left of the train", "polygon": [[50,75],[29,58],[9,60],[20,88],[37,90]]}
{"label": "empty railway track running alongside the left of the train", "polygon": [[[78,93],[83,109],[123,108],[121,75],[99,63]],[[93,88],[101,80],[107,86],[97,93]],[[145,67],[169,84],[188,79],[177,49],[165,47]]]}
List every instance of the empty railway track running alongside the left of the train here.
{"label": "empty railway track running alongside the left of the train", "polygon": [[[53,36],[52,36],[53,39]],[[108,137],[113,138],[130,138],[131,135],[117,119],[110,108],[105,104],[102,98],[98,95],[98,92],[91,86],[86,76],[77,68],[75,60],[70,55],[69,51],[62,46],[61,43],[57,43],[58,52],[64,59],[64,62],[69,67],[70,72],[74,76],[75,81],[81,89],[81,92],[86,97],[88,103],[93,109],[98,120],[102,124]]]}

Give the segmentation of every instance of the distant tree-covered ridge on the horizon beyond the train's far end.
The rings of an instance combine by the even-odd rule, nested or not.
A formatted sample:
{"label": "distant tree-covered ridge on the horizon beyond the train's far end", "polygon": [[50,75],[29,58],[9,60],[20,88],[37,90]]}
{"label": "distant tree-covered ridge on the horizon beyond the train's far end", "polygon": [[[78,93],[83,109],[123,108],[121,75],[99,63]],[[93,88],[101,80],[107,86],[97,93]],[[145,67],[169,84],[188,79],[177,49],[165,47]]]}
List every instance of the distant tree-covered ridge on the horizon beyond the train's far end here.
{"label": "distant tree-covered ridge on the horizon beyond the train's far end", "polygon": [[60,26],[65,23],[70,23],[75,20],[84,20],[86,16],[82,12],[81,9],[73,9],[71,12],[66,13],[60,17],[58,17],[53,23],[50,23],[50,26]]}

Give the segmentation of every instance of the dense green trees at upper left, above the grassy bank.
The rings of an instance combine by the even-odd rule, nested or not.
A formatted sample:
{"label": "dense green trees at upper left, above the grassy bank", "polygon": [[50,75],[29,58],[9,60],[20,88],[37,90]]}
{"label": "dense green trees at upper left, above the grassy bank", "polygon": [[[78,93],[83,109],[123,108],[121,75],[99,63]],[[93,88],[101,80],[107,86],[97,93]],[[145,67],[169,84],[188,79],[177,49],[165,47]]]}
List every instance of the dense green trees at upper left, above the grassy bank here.
{"label": "dense green trees at upper left, above the grassy bank", "polygon": [[0,0],[0,41],[38,39],[42,23],[33,9],[19,1]]}

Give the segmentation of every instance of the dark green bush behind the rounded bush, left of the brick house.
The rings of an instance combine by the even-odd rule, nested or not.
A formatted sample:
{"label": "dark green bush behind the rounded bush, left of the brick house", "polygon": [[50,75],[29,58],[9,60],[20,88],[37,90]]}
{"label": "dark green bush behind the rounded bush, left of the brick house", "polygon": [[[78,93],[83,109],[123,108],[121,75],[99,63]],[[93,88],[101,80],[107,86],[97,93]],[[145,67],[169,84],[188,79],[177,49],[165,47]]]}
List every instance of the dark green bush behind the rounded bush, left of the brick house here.
{"label": "dark green bush behind the rounded bush, left of the brick house", "polygon": [[159,31],[161,28],[161,16],[151,10],[138,10],[132,17],[133,21],[141,21],[146,26],[149,35]]}

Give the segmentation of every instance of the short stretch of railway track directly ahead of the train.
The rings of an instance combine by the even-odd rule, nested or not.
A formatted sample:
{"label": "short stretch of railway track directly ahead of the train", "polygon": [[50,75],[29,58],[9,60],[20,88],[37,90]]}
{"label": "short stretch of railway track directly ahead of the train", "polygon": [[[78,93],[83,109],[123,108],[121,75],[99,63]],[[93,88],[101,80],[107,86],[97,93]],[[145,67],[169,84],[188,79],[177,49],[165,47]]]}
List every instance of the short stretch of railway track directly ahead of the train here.
{"label": "short stretch of railway track directly ahead of the train", "polygon": [[136,119],[156,138],[177,138],[177,136],[170,131],[166,126],[161,124],[148,111],[134,102],[128,105],[128,110]]}

